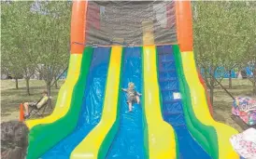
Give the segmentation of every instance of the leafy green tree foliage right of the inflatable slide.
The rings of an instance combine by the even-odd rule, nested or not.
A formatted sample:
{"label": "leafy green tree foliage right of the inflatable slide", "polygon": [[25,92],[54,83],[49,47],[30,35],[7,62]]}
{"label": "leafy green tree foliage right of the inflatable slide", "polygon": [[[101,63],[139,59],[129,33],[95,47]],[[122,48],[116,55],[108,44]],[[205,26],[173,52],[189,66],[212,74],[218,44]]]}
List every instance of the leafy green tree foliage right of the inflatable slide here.
{"label": "leafy green tree foliage right of the inflatable slide", "polygon": [[[256,39],[255,20],[252,20],[255,19],[255,12],[253,16],[250,7],[247,2],[192,3],[195,58],[199,67],[210,70],[204,75],[211,102],[214,88],[218,85],[216,80],[221,81],[214,78],[217,68],[222,66],[230,71],[244,67],[249,61],[245,58],[249,57],[248,47],[254,45],[255,48],[256,43],[252,42]],[[254,25],[253,29],[251,25]]]}

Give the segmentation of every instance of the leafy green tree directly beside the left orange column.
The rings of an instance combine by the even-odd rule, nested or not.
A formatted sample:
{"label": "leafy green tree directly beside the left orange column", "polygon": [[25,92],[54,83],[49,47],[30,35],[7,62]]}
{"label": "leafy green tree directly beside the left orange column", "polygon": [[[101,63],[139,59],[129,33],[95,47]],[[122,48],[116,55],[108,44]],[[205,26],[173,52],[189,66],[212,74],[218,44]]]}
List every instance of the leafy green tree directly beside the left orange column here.
{"label": "leafy green tree directly beside the left orange column", "polygon": [[[69,34],[71,4],[67,2],[40,2],[36,11],[37,71],[42,74],[50,94],[50,85],[54,77],[67,66],[69,57]],[[43,12],[43,14],[42,14]]]}

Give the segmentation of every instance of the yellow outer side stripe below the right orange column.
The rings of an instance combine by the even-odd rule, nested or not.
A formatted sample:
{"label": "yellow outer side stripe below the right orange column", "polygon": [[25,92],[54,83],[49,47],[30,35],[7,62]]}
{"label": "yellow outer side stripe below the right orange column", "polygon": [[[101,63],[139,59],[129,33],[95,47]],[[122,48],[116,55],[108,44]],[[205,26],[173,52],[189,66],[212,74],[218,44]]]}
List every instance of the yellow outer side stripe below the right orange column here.
{"label": "yellow outer side stripe below the right orange column", "polygon": [[214,121],[209,113],[204,86],[198,78],[193,52],[182,52],[182,65],[185,78],[190,86],[192,109],[195,116],[206,126],[213,126],[217,132],[219,159],[239,159],[238,154],[230,144],[230,137],[238,132],[231,126]]}

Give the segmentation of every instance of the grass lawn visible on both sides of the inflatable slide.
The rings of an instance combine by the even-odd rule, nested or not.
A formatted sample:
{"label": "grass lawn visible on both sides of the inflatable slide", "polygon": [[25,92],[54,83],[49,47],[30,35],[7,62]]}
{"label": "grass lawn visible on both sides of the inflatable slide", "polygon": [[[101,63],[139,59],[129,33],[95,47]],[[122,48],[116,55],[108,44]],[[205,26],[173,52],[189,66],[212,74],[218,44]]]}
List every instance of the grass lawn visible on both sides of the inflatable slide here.
{"label": "grass lawn visible on both sides of the inflatable slide", "polygon": [[[58,86],[60,87],[63,81],[60,81]],[[221,84],[228,87],[228,80],[224,79]],[[46,88],[44,81],[31,80],[30,90],[31,96],[26,95],[25,81],[19,80],[19,89],[15,88],[15,81],[2,80],[1,81],[1,117],[2,122],[8,120],[19,119],[19,104],[24,101],[34,101],[40,98],[41,92]],[[252,86],[249,80],[233,80],[233,89],[228,89],[235,97],[236,96],[250,96]],[[59,89],[51,88],[52,105],[55,106]],[[224,90],[218,86],[215,89],[214,95],[214,118],[221,123],[225,123],[229,126],[235,127],[238,131],[242,131],[230,117],[233,99],[225,93]]]}

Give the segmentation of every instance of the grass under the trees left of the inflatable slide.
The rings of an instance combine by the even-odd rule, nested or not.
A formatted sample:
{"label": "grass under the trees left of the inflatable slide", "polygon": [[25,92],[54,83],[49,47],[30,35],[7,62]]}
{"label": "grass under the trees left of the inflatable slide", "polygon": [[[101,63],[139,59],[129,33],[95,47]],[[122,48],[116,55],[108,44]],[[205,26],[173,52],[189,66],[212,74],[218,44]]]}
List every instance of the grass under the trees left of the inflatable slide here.
{"label": "grass under the trees left of the inflatable slide", "polygon": [[[58,87],[63,84],[63,81],[58,83]],[[20,103],[25,101],[35,101],[41,98],[42,91],[46,90],[45,82],[42,80],[30,81],[31,96],[26,94],[26,83],[24,80],[19,80],[19,89],[15,88],[14,80],[1,80],[1,122],[8,120],[19,120]],[[55,106],[59,89],[51,88],[52,106]],[[50,109],[47,108],[47,112]]]}

